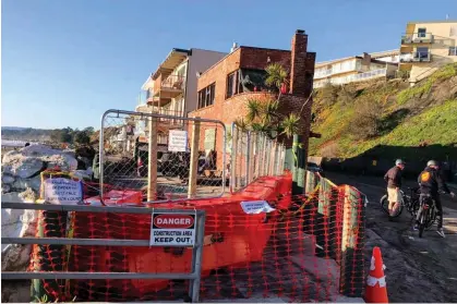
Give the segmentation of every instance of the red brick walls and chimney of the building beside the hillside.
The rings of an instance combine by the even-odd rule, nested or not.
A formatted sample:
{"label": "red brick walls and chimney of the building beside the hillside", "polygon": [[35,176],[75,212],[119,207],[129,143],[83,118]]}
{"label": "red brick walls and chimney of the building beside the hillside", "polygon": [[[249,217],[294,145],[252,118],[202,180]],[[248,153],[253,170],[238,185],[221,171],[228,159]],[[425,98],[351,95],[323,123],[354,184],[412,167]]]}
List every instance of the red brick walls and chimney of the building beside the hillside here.
{"label": "red brick walls and chimney of the building beside the hillside", "polygon": [[[189,117],[219,120],[226,124],[227,129],[230,129],[233,121],[245,117],[249,99],[253,98],[266,101],[268,99],[276,99],[276,95],[266,92],[243,93],[226,99],[227,75],[240,68],[264,70],[270,63],[280,63],[285,69],[290,71],[291,78],[289,94],[282,95],[279,100],[279,112],[287,115],[291,112],[299,113],[301,111],[299,133],[303,135],[303,144],[308,147],[312,98],[310,98],[304,107],[303,104],[311,95],[313,88],[315,53],[308,52],[306,48],[308,36],[304,33],[294,34],[291,51],[252,47],[238,48],[200,76],[197,84],[199,90],[216,83],[214,105],[190,112]],[[202,138],[204,138],[203,130],[204,127],[201,131]],[[280,139],[284,139],[287,145],[291,145],[291,138],[285,138],[282,136]],[[218,130],[216,133],[218,169],[223,169],[223,143],[224,134],[221,130]],[[201,139],[201,149],[203,149],[203,145],[204,139]]]}

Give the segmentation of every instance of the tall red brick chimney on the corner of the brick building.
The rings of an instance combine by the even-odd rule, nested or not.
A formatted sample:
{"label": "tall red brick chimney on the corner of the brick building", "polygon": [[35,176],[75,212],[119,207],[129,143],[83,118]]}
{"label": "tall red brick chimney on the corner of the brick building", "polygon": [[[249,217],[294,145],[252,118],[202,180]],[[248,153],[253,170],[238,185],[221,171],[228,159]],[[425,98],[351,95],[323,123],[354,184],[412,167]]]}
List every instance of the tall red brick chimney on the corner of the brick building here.
{"label": "tall red brick chimney on the corner of the brick building", "polygon": [[305,77],[306,70],[308,35],[303,29],[297,29],[292,37],[290,58],[290,89],[289,93],[304,97],[308,85]]}

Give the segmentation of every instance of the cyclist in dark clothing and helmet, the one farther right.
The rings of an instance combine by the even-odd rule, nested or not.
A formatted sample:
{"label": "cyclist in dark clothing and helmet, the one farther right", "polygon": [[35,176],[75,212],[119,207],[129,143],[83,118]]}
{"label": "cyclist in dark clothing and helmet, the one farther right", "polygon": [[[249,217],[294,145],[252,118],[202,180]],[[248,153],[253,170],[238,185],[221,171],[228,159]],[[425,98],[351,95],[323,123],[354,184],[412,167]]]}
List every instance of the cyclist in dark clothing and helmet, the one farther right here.
{"label": "cyclist in dark clothing and helmet, the one farther right", "polygon": [[[443,231],[443,206],[440,199],[438,191],[445,192],[450,194],[452,197],[455,197],[454,192],[450,192],[447,187],[446,183],[444,182],[441,173],[438,163],[435,160],[429,160],[426,162],[425,169],[419,174],[418,178],[419,182],[419,191],[420,191],[420,202],[425,198],[425,196],[431,196],[432,199],[435,202],[436,206],[436,218],[437,218],[437,230],[436,232],[445,238]],[[421,215],[421,209],[418,212],[416,218],[414,230],[419,228],[419,219]]]}

